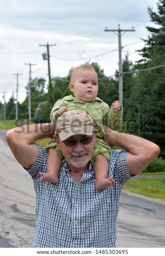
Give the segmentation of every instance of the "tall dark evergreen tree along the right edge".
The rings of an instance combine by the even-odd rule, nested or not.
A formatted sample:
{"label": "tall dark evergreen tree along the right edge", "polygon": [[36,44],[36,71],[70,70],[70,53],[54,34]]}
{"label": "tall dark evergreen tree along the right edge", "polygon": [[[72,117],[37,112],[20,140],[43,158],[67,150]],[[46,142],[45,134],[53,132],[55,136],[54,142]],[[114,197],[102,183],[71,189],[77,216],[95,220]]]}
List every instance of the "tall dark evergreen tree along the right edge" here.
{"label": "tall dark evergreen tree along the right edge", "polygon": [[[157,143],[161,149],[160,155],[165,157],[165,68],[151,70],[151,67],[165,63],[165,0],[159,0],[157,6],[157,12],[148,8],[151,21],[156,27],[146,27],[148,38],[144,40],[145,46],[138,50],[142,59],[136,67],[148,70],[137,75],[137,83],[130,96],[134,104],[130,114],[134,114],[137,120],[132,131],[137,129],[139,135]],[[144,126],[144,122],[148,122],[147,126]]]}

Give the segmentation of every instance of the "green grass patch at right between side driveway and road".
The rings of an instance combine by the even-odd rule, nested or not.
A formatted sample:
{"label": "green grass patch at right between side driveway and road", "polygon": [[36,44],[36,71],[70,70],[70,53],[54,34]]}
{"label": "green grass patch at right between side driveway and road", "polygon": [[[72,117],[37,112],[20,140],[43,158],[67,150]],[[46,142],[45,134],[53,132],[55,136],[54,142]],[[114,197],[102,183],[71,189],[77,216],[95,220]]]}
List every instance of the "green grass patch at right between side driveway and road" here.
{"label": "green grass patch at right between side driveway and road", "polygon": [[[148,175],[153,173],[148,173]],[[132,178],[123,189],[146,197],[165,200],[165,178]]]}

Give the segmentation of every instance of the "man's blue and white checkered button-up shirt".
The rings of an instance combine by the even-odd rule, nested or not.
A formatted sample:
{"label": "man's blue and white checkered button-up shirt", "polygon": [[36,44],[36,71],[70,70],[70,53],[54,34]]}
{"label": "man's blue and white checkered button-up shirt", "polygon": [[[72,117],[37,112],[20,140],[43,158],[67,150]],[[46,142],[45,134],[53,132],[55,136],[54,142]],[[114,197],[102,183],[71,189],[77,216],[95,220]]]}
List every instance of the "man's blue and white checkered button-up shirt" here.
{"label": "man's blue and white checkered button-up shirt", "polygon": [[116,246],[116,218],[123,183],[131,178],[126,164],[128,152],[111,150],[108,176],[115,185],[95,189],[93,165],[77,184],[63,160],[58,183],[40,182],[39,172],[47,172],[47,152],[38,147],[38,158],[27,170],[36,193],[37,248],[112,248]]}

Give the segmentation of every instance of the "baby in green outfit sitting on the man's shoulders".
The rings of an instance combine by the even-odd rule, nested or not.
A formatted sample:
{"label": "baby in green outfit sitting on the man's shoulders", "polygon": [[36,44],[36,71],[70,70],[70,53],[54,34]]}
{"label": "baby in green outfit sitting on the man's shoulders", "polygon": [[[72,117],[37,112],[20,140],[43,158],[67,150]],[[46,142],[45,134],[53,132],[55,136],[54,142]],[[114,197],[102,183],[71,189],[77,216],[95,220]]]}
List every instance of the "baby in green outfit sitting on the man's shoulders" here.
{"label": "baby in green outfit sitting on the man's shoulders", "polygon": [[[107,178],[111,147],[105,142],[103,125],[114,127],[121,118],[123,108],[118,101],[115,101],[110,109],[108,104],[97,97],[98,75],[90,64],[75,68],[71,72],[70,81],[69,88],[74,97],[69,95],[58,100],[54,104],[50,118],[56,123],[61,114],[71,109],[86,111],[92,117],[98,132],[91,161],[94,163],[95,188],[101,190],[112,185],[112,176]],[[46,149],[48,149],[47,173],[40,173],[40,181],[57,183],[63,155],[55,140],[49,142]]]}

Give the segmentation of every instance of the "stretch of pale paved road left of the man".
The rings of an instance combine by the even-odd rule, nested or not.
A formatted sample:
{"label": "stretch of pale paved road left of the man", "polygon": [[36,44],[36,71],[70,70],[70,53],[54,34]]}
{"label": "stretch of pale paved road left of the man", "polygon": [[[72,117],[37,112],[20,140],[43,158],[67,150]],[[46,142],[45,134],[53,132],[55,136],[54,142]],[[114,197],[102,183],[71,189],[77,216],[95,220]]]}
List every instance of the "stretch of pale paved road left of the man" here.
{"label": "stretch of pale paved road left of the man", "polygon": [[35,229],[33,182],[16,162],[5,140],[0,140],[0,177],[0,247],[7,247],[7,244],[8,247],[32,247]]}

